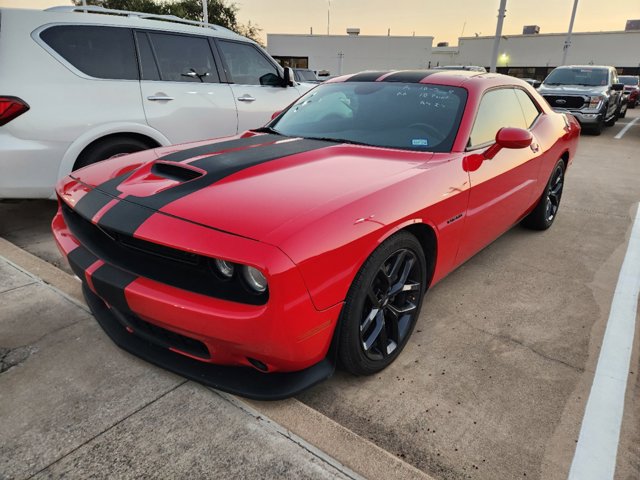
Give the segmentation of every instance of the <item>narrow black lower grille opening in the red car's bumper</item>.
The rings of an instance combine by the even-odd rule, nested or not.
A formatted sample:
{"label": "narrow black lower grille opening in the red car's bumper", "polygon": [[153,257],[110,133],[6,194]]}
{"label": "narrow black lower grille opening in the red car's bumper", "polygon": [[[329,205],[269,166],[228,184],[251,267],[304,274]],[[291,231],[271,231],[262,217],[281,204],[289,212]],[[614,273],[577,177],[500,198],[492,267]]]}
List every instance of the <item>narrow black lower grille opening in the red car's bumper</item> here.
{"label": "narrow black lower grille opening in the red car's bumper", "polygon": [[188,353],[198,358],[211,358],[207,346],[195,338],[186,337],[179,333],[172,332],[166,328],[159,327],[153,323],[146,322],[135,315],[124,314],[115,311],[115,316],[125,327],[133,330],[133,333],[144,338],[148,342],[164,348],[173,348],[181,352]]}

